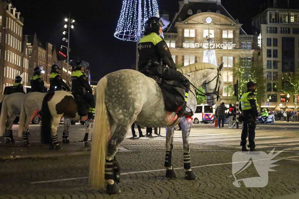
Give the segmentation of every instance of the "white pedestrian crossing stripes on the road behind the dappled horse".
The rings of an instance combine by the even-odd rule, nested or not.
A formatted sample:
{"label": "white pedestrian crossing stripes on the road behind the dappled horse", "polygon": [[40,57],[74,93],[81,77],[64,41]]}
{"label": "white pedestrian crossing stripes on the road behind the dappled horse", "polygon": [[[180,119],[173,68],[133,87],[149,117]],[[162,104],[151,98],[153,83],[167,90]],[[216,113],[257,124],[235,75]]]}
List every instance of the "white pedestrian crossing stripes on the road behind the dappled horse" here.
{"label": "white pedestrian crossing stripes on the road behind the dappled horse", "polygon": [[[154,139],[154,140],[165,140],[165,132],[161,132],[160,136],[153,134],[154,137],[145,137],[141,139]],[[129,136],[128,136],[129,137]],[[173,141],[183,142],[181,133],[177,131],[174,134]],[[241,133],[239,134],[227,134],[227,133],[201,133],[201,132],[190,132],[189,142],[193,144],[202,145],[217,145],[217,146],[230,146],[241,148]],[[259,150],[269,150],[267,148],[273,149],[287,148],[286,150],[299,150],[299,139],[297,138],[286,138],[282,136],[272,136],[272,135],[255,135],[255,145],[256,149]]]}

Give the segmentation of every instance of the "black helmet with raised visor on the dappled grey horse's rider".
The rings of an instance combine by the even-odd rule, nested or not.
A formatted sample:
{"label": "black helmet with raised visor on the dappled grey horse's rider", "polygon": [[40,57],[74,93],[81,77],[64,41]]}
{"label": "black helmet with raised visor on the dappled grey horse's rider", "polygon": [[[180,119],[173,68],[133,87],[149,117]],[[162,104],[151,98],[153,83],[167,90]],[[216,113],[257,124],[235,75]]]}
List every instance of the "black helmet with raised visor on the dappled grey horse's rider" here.
{"label": "black helmet with raised visor on the dappled grey horse's rider", "polygon": [[164,30],[168,25],[170,24],[170,21],[167,21],[166,19],[162,17],[150,17],[147,22],[145,23],[145,32],[144,34],[147,35],[149,33],[157,33],[159,34],[160,27]]}

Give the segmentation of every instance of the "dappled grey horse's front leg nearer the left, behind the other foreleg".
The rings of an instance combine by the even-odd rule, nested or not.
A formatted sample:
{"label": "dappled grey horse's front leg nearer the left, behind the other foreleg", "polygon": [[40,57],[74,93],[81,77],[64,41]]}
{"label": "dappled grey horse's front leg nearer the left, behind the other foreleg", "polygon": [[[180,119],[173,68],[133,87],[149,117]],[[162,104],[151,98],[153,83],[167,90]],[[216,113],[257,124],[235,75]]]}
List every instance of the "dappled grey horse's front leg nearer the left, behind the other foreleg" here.
{"label": "dappled grey horse's front leg nearer the left, behind the other foreleg", "polygon": [[166,154],[165,154],[165,163],[164,166],[166,168],[166,177],[167,178],[175,178],[176,171],[172,168],[171,164],[171,156],[173,149],[173,134],[174,127],[166,127]]}

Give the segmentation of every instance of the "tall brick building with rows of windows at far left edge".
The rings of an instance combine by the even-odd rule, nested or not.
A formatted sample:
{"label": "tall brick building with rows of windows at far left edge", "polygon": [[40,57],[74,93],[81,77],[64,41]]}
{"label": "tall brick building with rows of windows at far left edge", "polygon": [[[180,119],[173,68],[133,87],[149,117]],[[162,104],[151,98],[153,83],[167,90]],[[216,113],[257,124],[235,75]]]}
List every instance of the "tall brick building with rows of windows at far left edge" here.
{"label": "tall brick building with rows of windows at far left edge", "polygon": [[23,18],[10,0],[0,1],[0,91],[22,71]]}

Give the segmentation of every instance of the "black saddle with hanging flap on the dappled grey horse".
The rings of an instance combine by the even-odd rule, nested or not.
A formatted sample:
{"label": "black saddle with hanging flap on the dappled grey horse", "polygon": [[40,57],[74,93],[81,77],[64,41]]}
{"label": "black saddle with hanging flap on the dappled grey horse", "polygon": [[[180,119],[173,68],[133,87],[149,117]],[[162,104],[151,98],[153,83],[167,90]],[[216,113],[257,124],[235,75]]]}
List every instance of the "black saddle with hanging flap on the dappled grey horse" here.
{"label": "black saddle with hanging flap on the dappled grey horse", "polygon": [[178,112],[185,102],[185,87],[174,80],[164,80],[149,70],[140,71],[154,79],[160,86],[164,98],[165,109],[168,112]]}

